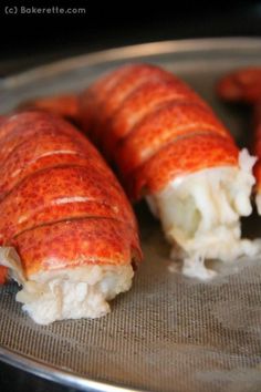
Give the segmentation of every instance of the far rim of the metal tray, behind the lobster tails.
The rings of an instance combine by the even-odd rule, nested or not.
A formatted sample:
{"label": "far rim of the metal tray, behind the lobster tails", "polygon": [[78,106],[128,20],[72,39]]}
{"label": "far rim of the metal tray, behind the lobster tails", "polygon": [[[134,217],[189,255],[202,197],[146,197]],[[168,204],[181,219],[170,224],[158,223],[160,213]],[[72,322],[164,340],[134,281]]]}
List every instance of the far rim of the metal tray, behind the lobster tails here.
{"label": "far rim of the metal tray, behind the lobster tails", "polygon": [[126,47],[117,47],[87,54],[80,54],[64,60],[52,61],[46,64],[29,68],[28,70],[14,73],[0,79],[0,89],[18,87],[29,81],[38,80],[42,73],[44,76],[54,76],[58,73],[66,72],[73,68],[95,65],[97,63],[116,60],[130,60],[137,56],[152,54],[167,54],[197,51],[229,50],[239,44],[240,49],[261,49],[261,37],[227,37],[227,38],[203,38],[203,39],[180,39],[168,41],[145,42]]}

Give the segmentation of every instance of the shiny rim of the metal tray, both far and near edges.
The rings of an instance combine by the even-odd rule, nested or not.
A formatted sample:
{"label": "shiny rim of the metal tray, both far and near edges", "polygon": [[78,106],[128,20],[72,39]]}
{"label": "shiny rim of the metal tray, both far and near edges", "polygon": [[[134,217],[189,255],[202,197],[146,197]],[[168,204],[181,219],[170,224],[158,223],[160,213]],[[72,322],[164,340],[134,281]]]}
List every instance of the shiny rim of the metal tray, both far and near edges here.
{"label": "shiny rim of the metal tray, both far and near edges", "polygon": [[[148,56],[150,54],[167,54],[180,52],[210,50],[229,50],[234,49],[234,45],[240,45],[240,50],[261,49],[261,37],[223,37],[223,38],[195,38],[167,40],[156,42],[145,42],[139,44],[117,47],[87,54],[75,55],[64,60],[53,61],[35,68],[30,68],[21,73],[15,73],[7,78],[0,79],[1,90],[15,89],[29,81],[38,80],[42,73],[44,76],[53,76],[61,72],[66,72],[73,68],[95,65],[97,63],[116,60],[135,59],[139,55]],[[43,361],[30,359],[22,353],[14,350],[7,349],[0,344],[0,361],[10,364],[17,369],[28,373],[41,376],[45,380],[63,384],[64,386],[72,386],[85,391],[100,392],[145,392],[145,390],[133,389],[117,383],[109,383],[106,381],[97,381],[75,374],[73,372],[61,370]],[[148,392],[148,390],[146,390]]]}

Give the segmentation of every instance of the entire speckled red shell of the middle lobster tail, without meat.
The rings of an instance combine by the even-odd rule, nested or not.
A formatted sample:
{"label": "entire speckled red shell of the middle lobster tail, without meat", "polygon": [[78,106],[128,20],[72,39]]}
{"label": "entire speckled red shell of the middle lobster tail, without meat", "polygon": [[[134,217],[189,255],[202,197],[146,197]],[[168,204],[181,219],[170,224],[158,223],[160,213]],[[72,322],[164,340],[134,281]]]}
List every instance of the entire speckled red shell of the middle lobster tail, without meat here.
{"label": "entire speckled red shell of the middle lobster tail, without meat", "polygon": [[212,110],[156,66],[133,64],[104,76],[80,96],[80,115],[132,199],[160,190],[180,174],[237,165],[238,148]]}

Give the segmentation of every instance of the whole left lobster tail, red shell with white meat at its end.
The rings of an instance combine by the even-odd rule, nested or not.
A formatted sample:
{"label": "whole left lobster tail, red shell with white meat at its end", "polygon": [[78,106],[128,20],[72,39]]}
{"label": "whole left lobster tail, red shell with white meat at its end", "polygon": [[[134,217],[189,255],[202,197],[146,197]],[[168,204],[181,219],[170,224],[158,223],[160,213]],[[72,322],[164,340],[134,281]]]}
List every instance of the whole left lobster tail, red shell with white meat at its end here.
{"label": "whole left lobster tail, red shell with white meat at its end", "polygon": [[96,148],[43,112],[0,124],[0,280],[38,323],[109,311],[142,259],[132,207]]}

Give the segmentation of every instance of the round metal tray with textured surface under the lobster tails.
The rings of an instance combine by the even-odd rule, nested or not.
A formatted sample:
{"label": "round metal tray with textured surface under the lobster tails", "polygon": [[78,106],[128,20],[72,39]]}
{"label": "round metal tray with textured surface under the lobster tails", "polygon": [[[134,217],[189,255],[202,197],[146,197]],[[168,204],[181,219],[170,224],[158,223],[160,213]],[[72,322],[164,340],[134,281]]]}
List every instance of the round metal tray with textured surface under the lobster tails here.
{"label": "round metal tray with textured surface under the lobster tails", "polygon": [[[82,55],[0,81],[0,113],[23,100],[83,89],[125,62],[150,62],[189,82],[240,145],[247,112],[221,104],[213,86],[225,72],[261,64],[261,39],[207,39],[139,44]],[[244,260],[211,283],[170,274],[169,247],[144,204],[136,207],[145,260],[130,291],[97,320],[33,323],[0,289],[0,359],[91,391],[260,391],[261,260]],[[260,218],[261,219],[261,218]],[[244,231],[261,236],[259,218]]]}

